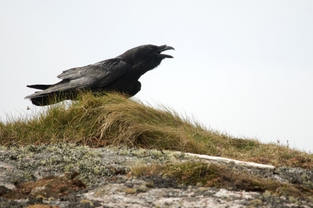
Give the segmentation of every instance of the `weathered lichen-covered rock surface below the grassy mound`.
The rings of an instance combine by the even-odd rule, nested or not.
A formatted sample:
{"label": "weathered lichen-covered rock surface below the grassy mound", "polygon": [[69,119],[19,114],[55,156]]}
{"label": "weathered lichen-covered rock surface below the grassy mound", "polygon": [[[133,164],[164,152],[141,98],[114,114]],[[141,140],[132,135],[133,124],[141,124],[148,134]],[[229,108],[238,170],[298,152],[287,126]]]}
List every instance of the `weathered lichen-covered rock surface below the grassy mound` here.
{"label": "weathered lichen-covered rock surface below the grassy mound", "polygon": [[[173,179],[127,175],[136,163],[153,164],[197,160],[179,152],[137,148],[89,148],[74,144],[0,148],[0,207],[27,207],[47,204],[52,207],[313,207],[312,200],[293,196],[275,196],[270,192],[246,192],[224,188],[180,186]],[[228,164],[231,169],[280,182],[295,183],[312,189],[312,170],[280,167],[253,169]],[[87,188],[59,197],[32,195],[8,200],[18,184],[38,181],[46,176],[64,176],[77,172],[75,179]]]}

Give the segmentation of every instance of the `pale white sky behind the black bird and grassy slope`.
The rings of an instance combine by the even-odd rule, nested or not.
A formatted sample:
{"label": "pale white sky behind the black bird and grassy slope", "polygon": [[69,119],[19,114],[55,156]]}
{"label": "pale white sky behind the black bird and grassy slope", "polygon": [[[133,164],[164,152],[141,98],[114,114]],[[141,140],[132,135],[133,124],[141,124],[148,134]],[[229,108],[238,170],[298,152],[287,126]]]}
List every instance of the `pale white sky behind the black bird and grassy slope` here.
{"label": "pale white sky behind the black bird and grassy slope", "polygon": [[144,44],[172,46],[135,96],[235,137],[313,151],[313,1],[0,0],[0,116],[26,85]]}

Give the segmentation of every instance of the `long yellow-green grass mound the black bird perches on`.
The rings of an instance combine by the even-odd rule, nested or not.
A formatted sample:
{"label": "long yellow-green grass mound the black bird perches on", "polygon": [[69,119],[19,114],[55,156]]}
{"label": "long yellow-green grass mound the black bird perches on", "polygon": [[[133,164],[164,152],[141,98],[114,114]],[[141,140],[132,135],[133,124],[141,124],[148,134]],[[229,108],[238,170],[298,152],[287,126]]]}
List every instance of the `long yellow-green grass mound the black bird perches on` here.
{"label": "long yellow-green grass mound the black bird perches on", "polygon": [[0,145],[71,142],[93,147],[139,146],[260,162],[275,166],[313,168],[313,154],[281,144],[263,144],[211,130],[167,106],[153,107],[118,93],[83,93],[77,102],[59,103],[8,117],[0,123]]}

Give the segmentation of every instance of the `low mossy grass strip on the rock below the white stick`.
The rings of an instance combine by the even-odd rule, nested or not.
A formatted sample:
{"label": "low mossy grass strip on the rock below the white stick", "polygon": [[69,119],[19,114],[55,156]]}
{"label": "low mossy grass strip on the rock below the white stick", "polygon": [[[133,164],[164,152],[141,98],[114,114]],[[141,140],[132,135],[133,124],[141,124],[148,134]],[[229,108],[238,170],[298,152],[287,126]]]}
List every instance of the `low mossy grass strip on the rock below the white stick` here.
{"label": "low mossy grass strip on the rock below the white stick", "polygon": [[166,165],[134,165],[131,176],[162,177],[174,179],[181,186],[201,186],[270,192],[271,195],[288,195],[295,197],[312,197],[313,190],[290,183],[280,183],[264,179],[245,172],[234,171],[224,165],[204,162],[168,163]]}

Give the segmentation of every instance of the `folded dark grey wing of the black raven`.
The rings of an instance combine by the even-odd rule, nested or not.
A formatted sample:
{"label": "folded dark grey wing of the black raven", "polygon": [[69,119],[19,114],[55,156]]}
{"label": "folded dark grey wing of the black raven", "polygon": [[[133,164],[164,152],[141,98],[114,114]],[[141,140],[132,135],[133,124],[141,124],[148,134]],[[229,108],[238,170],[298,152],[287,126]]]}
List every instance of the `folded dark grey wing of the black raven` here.
{"label": "folded dark grey wing of the black raven", "polygon": [[128,65],[118,58],[105,60],[85,67],[78,67],[63,71],[57,78],[63,79],[50,88],[25,97],[41,97],[42,95],[67,90],[81,90],[83,88],[100,88],[115,81],[125,74]]}

